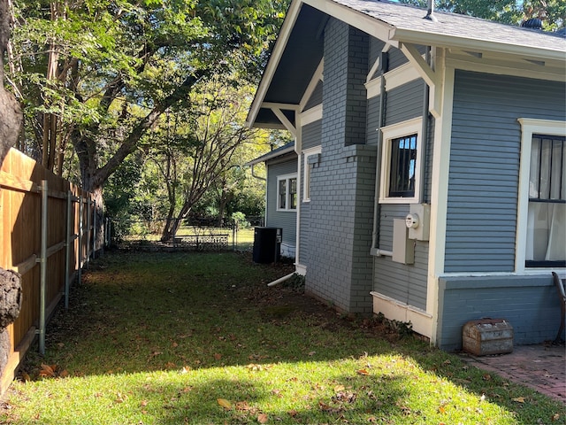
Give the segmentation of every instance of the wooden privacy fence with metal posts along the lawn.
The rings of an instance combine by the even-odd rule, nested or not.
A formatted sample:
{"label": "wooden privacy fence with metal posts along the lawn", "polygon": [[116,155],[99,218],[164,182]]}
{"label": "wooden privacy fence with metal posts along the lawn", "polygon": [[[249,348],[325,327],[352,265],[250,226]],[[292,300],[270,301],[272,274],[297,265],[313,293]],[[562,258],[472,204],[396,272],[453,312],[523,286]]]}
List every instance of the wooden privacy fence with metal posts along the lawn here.
{"label": "wooden privacy fence with metal posts along the lawn", "polygon": [[[46,321],[59,301],[68,306],[69,286],[96,252],[96,205],[92,196],[11,149],[0,168],[0,267],[21,276],[18,319],[0,331],[0,391],[39,338],[45,350]],[[77,276],[78,274],[78,276]],[[3,364],[4,363],[4,364]]]}

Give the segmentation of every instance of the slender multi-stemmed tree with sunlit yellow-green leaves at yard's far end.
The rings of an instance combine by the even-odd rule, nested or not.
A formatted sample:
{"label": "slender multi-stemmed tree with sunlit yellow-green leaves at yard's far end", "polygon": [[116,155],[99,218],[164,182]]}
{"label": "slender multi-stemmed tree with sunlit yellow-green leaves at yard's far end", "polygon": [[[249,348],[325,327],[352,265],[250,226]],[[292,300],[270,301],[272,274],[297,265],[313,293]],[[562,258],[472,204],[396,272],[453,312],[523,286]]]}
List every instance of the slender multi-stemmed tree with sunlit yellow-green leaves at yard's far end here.
{"label": "slender multi-stemmed tree with sunlit yellow-green leaves at yard's far end", "polygon": [[241,152],[263,133],[244,126],[250,97],[249,86],[235,88],[217,76],[195,86],[190,110],[172,108],[159,121],[148,155],[167,188],[162,240],[177,233],[207,191],[218,185],[229,190],[230,175],[245,162]]}

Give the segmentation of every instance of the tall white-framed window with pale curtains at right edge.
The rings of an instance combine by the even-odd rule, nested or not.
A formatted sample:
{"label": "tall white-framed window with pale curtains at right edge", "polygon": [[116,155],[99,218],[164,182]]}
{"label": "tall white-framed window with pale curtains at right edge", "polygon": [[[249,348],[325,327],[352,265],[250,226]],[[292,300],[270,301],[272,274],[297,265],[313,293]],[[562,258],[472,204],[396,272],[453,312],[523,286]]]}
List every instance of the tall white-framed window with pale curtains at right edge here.
{"label": "tall white-framed window with pale curtains at right edge", "polygon": [[566,123],[521,119],[517,259],[566,267]]}

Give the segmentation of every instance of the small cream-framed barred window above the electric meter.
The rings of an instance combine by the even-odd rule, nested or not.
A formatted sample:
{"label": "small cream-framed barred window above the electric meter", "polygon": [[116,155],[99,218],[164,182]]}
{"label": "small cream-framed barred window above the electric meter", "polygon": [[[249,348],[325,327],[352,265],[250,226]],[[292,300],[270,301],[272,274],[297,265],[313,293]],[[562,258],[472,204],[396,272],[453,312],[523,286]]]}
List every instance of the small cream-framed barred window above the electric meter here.
{"label": "small cream-framed barred window above the electric meter", "polygon": [[380,203],[419,202],[422,124],[422,118],[416,118],[381,128]]}

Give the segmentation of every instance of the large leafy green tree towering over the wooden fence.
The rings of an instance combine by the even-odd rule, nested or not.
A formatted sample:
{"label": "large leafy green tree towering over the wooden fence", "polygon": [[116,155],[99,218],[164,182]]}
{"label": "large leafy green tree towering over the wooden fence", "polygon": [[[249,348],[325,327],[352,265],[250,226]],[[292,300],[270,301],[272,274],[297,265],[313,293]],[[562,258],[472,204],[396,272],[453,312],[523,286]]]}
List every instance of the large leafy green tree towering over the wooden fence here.
{"label": "large leafy green tree towering over the wooden fence", "polygon": [[10,69],[26,105],[27,148],[60,173],[71,143],[81,185],[102,205],[104,182],[164,112],[191,108],[197,83],[256,78],[284,4],[23,0]]}

